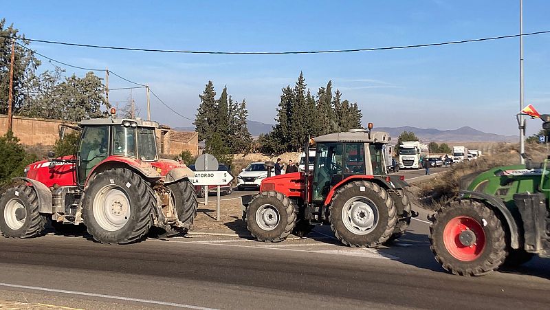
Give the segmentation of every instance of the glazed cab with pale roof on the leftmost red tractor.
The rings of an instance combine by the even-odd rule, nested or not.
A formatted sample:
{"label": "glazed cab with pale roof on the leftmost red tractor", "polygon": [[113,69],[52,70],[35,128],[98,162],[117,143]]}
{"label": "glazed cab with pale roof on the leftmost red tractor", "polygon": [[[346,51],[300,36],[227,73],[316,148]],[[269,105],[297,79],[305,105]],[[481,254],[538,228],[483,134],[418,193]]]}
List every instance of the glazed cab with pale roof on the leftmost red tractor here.
{"label": "glazed cab with pale roof on the leftmost red tractor", "polygon": [[128,119],[83,120],[76,153],[78,184],[83,185],[91,170],[107,157],[126,157],[142,162],[158,159],[156,122]]}

